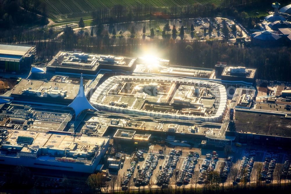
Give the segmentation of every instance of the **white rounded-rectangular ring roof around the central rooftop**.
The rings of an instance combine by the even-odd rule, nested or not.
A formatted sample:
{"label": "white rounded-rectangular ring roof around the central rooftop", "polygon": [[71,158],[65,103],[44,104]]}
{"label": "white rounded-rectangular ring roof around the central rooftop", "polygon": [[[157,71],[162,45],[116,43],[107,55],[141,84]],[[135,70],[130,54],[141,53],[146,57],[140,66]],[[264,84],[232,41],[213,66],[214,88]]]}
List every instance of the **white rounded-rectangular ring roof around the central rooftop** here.
{"label": "white rounded-rectangular ring roof around the central rooftop", "polygon": [[[195,115],[187,115],[187,114],[175,114],[175,113],[166,113],[166,112],[153,112],[153,111],[146,111],[146,110],[138,110],[138,109],[131,109],[129,107],[116,107],[111,106],[109,104],[102,104],[100,99],[106,96],[107,91],[118,81],[121,80],[150,80],[152,82],[176,82],[180,84],[193,84],[193,85],[204,85],[207,87],[214,88],[217,92],[218,100],[219,100],[219,107],[217,112],[212,115],[208,115],[207,117],[203,116],[195,116]],[[136,114],[146,117],[162,117],[166,119],[178,119],[178,120],[200,120],[205,122],[217,122],[220,121],[223,117],[223,114],[226,110],[227,106],[227,94],[226,89],[223,85],[216,83],[216,82],[208,82],[203,80],[194,80],[188,78],[174,78],[174,77],[152,77],[152,76],[129,76],[129,75],[121,75],[121,76],[113,76],[109,77],[106,81],[104,81],[93,93],[90,98],[90,102],[94,107],[99,110],[106,110],[109,112],[117,112],[121,114]]]}

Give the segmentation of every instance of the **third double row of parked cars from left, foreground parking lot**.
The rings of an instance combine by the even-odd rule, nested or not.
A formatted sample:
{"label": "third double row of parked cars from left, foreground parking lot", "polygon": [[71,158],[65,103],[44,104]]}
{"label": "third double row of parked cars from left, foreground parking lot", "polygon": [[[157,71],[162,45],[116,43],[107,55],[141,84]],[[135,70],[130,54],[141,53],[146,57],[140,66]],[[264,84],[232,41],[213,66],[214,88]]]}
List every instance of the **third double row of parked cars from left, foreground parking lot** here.
{"label": "third double row of parked cars from left, foreground parking lot", "polygon": [[179,156],[168,156],[166,158],[165,164],[157,176],[158,186],[168,187],[170,183],[170,179],[173,176],[173,172],[175,168],[177,167],[178,161],[179,161]]}

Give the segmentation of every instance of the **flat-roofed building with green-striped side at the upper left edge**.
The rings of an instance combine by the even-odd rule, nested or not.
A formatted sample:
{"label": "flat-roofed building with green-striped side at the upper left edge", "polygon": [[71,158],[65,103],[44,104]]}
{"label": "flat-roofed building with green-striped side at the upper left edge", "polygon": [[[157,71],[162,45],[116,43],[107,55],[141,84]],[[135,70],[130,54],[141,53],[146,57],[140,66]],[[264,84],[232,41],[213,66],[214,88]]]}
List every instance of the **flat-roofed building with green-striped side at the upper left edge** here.
{"label": "flat-roofed building with green-striped side at the upper left edge", "polygon": [[35,54],[35,46],[0,44],[0,67],[6,71],[19,71],[31,65]]}

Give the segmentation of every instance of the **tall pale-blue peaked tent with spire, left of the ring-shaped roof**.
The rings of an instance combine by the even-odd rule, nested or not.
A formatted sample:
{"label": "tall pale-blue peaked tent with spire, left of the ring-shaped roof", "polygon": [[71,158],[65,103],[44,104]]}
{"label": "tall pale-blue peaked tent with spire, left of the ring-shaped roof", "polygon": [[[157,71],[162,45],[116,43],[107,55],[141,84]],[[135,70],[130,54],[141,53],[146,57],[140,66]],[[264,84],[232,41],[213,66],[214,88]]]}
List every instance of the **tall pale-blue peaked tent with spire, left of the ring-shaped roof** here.
{"label": "tall pale-blue peaked tent with spire, left of the ring-shaped roof", "polygon": [[68,105],[68,107],[71,107],[72,109],[75,110],[76,117],[83,110],[88,110],[88,109],[97,110],[89,103],[89,101],[87,100],[87,98],[85,96],[82,74],[81,74],[81,81],[80,81],[80,87],[79,87],[78,94],[74,98],[73,102]]}

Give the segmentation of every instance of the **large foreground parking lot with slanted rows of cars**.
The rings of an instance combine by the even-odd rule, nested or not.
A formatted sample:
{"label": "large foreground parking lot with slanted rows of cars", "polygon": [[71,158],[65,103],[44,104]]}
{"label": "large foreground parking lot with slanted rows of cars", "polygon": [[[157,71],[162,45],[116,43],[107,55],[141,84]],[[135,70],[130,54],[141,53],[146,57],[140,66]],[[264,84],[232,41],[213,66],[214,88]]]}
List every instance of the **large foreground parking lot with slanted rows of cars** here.
{"label": "large foreground parking lot with slanted rows of cars", "polygon": [[199,184],[203,184],[207,180],[207,171],[222,172],[222,180],[232,182],[232,177],[229,175],[231,168],[239,169],[237,182],[241,182],[244,176],[247,181],[255,181],[258,173],[254,166],[258,163],[264,164],[269,157],[270,161],[273,160],[273,162],[270,162],[268,168],[263,172],[266,174],[267,180],[267,177],[268,179],[273,178],[277,163],[286,163],[285,174],[287,177],[288,164],[290,163],[290,161],[286,161],[286,154],[271,153],[270,155],[265,150],[249,150],[247,146],[233,146],[232,153],[228,157],[223,151],[213,152],[210,149],[200,148],[171,148],[164,147],[164,145],[151,145],[146,150],[148,151],[145,151],[143,158],[137,161],[134,167],[132,165],[135,155],[125,157],[124,165],[118,171],[123,180],[127,179],[124,187],[135,186],[137,188],[138,186],[146,186],[152,181],[155,186],[167,188],[168,185],[175,185],[174,175],[176,171],[178,173],[177,186],[190,184],[195,171],[200,173]]}

